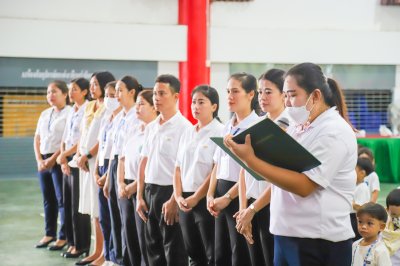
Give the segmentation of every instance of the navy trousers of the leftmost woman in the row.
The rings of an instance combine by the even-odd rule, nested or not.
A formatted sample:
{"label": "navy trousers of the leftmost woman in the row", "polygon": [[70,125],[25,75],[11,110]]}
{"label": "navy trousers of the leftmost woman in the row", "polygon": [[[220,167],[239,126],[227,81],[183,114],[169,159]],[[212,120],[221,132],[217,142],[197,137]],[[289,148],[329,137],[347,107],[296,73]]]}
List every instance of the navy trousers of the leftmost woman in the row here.
{"label": "navy trousers of the leftmost woman in the row", "polygon": [[[42,155],[43,159],[51,157],[53,154]],[[46,236],[56,237],[57,218],[60,213],[60,228],[58,231],[59,239],[66,239],[64,226],[64,200],[63,200],[63,174],[59,164],[55,164],[51,169],[38,172],[40,188],[43,195],[44,222]]]}

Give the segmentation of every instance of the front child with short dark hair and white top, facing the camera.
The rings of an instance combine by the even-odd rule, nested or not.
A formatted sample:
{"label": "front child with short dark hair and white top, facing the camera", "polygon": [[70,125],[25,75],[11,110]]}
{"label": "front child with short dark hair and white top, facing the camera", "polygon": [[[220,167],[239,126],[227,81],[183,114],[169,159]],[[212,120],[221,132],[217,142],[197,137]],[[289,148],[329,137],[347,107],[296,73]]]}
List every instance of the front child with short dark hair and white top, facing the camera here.
{"label": "front child with short dark hair and white top, facing the camera", "polygon": [[387,220],[385,208],[370,202],[357,211],[358,232],[362,236],[353,243],[353,266],[390,266],[389,251],[379,238],[379,233],[385,229]]}

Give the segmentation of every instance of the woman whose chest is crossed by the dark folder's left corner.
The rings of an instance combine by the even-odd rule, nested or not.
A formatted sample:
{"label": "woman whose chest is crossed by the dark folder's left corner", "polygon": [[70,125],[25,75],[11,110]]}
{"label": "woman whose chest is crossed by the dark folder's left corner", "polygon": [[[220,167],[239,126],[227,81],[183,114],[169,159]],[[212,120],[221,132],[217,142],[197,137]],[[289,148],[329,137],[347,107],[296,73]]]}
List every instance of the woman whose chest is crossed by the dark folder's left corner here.
{"label": "woman whose chest is crossed by the dark folder's left corner", "polygon": [[[230,76],[227,85],[229,110],[234,113],[223,135],[236,135],[259,121],[257,79],[247,73]],[[239,210],[238,180],[240,165],[217,148],[215,166],[207,192],[207,209],[215,217],[216,265],[248,265],[250,256],[243,235],[236,231],[233,215]]]}

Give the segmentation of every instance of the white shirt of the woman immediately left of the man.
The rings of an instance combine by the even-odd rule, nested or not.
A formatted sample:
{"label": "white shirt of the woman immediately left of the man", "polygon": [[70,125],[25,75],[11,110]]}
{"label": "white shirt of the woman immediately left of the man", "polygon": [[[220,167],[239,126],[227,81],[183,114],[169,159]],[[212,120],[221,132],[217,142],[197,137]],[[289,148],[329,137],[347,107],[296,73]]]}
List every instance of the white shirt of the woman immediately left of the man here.
{"label": "white shirt of the woman immediately left of the man", "polygon": [[144,144],[143,123],[136,124],[128,134],[128,139],[122,149],[121,157],[125,158],[125,179],[136,180],[139,175],[140,153]]}

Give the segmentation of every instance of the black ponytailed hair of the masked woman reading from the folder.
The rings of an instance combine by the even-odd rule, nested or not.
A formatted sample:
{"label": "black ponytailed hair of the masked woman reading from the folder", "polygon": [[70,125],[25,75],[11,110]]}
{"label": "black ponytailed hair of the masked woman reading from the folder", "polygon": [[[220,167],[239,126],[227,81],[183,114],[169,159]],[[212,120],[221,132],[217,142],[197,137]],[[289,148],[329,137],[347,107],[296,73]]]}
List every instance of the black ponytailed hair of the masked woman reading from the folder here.
{"label": "black ponytailed hair of the masked woman reading from the folder", "polygon": [[330,107],[336,106],[340,115],[354,130],[348,118],[347,105],[344,100],[342,89],[334,79],[324,76],[320,66],[313,63],[298,64],[290,68],[286,76],[293,77],[297,85],[303,88],[308,95],[316,89],[319,89],[325,104]]}

